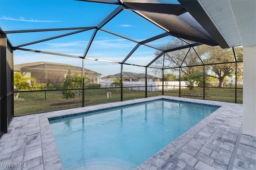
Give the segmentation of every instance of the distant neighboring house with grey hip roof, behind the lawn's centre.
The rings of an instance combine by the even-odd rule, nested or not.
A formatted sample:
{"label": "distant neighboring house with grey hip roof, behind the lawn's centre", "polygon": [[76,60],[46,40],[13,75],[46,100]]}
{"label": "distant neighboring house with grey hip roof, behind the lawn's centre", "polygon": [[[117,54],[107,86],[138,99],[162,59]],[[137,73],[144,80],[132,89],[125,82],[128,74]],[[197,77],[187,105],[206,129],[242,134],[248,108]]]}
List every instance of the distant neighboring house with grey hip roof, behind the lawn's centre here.
{"label": "distant neighboring house with grey hip roof, behind the lawn's centre", "polygon": [[[121,73],[104,76],[102,79],[104,82],[111,82],[115,78],[121,78]],[[152,76],[147,74],[148,82],[156,82],[159,81],[159,77]],[[145,73],[135,73],[135,72],[123,72],[123,81],[124,82],[145,82]]]}

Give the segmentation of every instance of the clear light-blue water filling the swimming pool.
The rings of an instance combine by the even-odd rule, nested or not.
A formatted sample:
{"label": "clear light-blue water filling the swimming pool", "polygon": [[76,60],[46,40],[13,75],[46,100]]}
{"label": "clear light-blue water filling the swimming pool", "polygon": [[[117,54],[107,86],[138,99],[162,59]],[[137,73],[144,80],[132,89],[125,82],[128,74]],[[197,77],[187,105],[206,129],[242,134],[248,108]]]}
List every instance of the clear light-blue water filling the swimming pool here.
{"label": "clear light-blue water filling the swimming pool", "polygon": [[65,169],[134,169],[218,107],[156,100],[50,121]]}

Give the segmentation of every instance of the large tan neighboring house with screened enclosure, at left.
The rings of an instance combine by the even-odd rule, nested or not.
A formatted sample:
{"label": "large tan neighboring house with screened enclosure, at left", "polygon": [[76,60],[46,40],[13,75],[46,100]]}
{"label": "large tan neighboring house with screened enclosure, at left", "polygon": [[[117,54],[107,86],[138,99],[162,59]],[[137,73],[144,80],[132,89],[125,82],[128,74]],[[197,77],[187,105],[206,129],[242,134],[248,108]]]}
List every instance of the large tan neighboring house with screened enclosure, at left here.
{"label": "large tan neighboring house with screened enclosure, at left", "polygon": [[[64,82],[64,78],[68,74],[68,66],[71,73],[77,73],[78,75],[82,75],[82,67],[80,66],[49,63],[44,61],[16,64],[14,65],[14,73],[21,72],[24,77],[34,77],[36,79],[36,84],[56,84]],[[86,68],[84,68],[84,74],[86,77],[88,77],[88,79],[86,79],[87,83],[100,83],[100,76],[102,74],[99,74],[98,72],[92,70],[88,70]]]}

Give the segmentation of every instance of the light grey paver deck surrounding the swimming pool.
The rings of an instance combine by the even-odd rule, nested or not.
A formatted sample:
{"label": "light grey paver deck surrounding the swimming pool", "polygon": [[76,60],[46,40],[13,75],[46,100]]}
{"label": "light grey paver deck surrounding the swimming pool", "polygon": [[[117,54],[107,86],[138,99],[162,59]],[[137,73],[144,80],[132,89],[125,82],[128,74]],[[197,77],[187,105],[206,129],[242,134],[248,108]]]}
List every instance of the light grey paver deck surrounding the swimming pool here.
{"label": "light grey paver deck surrounding the swimming pool", "polygon": [[64,169],[48,118],[161,98],[221,107],[146,160],[137,170],[256,169],[256,137],[241,134],[242,104],[169,96],[14,117],[8,133],[0,138],[0,169]]}

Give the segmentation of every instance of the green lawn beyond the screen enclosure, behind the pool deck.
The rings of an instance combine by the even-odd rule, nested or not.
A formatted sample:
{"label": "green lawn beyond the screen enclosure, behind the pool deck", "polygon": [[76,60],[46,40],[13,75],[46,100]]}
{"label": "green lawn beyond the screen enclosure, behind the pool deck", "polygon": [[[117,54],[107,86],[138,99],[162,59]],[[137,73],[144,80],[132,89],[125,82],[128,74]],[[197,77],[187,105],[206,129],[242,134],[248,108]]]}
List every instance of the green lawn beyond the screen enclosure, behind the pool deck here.
{"label": "green lawn beyond the screen enclosure, behind the pool deck", "polygon": [[[111,92],[112,97],[107,98],[106,93]],[[147,92],[148,97],[160,96],[162,91],[158,92]],[[179,96],[179,90],[168,90],[164,92],[166,96]],[[198,98],[203,99],[203,89],[194,88],[193,91],[189,88],[181,89],[181,97],[185,98]],[[235,102],[235,90],[229,88],[209,88],[205,90],[206,100],[215,100],[223,102]],[[20,100],[14,101],[14,115],[26,115],[31,113],[40,113],[46,111],[54,111],[60,109],[68,109],[82,106],[82,93],[77,94],[73,102],[62,98],[61,91],[44,91],[40,92],[21,92],[19,95]],[[85,106],[118,102],[121,100],[120,89],[117,91],[116,88],[111,89],[86,89],[85,90]],[[131,100],[145,98],[145,91],[128,90],[125,89],[123,92],[123,100]],[[242,89],[237,90],[237,103],[242,103]]]}

